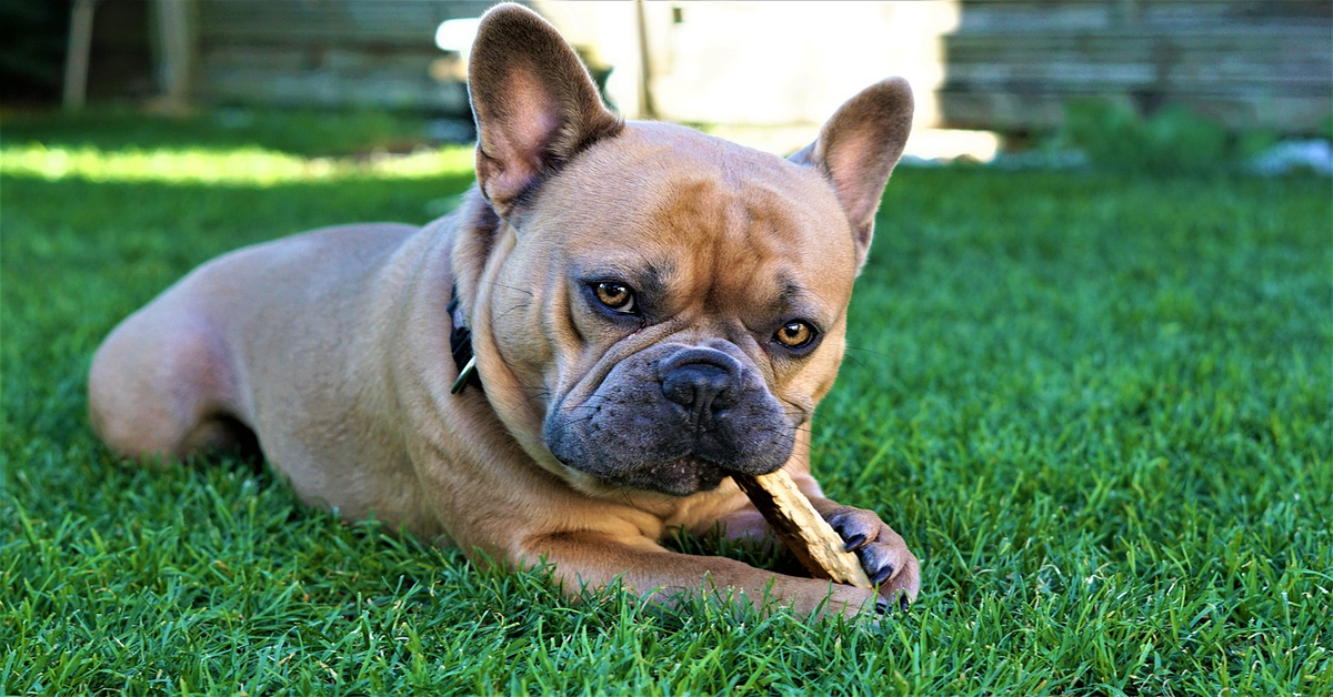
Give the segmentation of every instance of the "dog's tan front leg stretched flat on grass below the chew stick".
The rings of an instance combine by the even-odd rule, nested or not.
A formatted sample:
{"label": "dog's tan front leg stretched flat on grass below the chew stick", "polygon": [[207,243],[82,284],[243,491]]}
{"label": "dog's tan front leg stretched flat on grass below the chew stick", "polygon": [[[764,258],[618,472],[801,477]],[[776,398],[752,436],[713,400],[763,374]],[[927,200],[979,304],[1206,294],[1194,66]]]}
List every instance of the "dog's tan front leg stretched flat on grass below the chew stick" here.
{"label": "dog's tan front leg stretched flat on grass below the chew stick", "polygon": [[599,533],[548,534],[524,545],[523,562],[552,564],[561,590],[577,597],[584,588],[620,581],[633,593],[670,602],[682,592],[717,593],[733,602],[790,605],[802,614],[854,614],[884,608],[872,590],[797,578],[756,569],[724,557],[669,552],[652,540],[617,540]]}

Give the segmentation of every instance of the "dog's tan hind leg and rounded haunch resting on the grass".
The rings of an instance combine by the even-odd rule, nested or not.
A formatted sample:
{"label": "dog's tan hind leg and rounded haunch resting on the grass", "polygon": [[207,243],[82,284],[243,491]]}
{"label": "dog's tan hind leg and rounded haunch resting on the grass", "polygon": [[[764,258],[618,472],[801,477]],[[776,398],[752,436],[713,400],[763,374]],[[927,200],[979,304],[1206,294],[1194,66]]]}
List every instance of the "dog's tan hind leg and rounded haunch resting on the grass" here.
{"label": "dog's tan hind leg and rounded haunch resting on the grass", "polygon": [[257,457],[235,394],[224,341],[180,287],[121,323],[97,349],[88,377],[93,430],[129,457],[227,450]]}

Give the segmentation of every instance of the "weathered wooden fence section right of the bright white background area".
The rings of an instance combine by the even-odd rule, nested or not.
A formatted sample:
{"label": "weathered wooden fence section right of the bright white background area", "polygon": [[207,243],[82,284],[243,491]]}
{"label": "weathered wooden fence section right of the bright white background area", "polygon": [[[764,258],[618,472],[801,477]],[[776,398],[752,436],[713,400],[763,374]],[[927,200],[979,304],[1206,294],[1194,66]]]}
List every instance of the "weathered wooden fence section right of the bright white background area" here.
{"label": "weathered wooden fence section right of the bright white background area", "polygon": [[1050,129],[1102,97],[1181,103],[1233,129],[1310,133],[1333,111],[1328,0],[961,0],[945,36],[941,120]]}

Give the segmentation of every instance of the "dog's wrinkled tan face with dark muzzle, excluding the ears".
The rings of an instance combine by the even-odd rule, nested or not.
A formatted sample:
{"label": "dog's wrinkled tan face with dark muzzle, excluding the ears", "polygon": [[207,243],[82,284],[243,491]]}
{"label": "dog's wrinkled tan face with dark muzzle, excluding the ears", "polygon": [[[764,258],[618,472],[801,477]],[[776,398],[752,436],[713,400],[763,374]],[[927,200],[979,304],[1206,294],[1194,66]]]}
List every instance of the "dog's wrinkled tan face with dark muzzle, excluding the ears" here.
{"label": "dog's wrinkled tan face with dark muzzle, excluding the ears", "polygon": [[782,466],[836,374],[856,275],[820,176],[633,124],[537,203],[493,315],[511,368],[540,385],[556,458],[672,494]]}

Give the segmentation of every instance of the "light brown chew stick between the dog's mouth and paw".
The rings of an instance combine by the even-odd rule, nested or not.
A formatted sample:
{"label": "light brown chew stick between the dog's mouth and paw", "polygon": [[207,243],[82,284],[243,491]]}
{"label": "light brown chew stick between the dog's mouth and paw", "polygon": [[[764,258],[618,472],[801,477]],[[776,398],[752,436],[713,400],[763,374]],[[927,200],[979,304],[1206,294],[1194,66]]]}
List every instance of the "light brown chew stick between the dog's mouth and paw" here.
{"label": "light brown chew stick between the dog's mouth and paw", "polygon": [[873,588],[861,560],[844,549],[842,537],[814,510],[785,469],[757,477],[734,474],[732,478],[805,570],[816,578]]}

